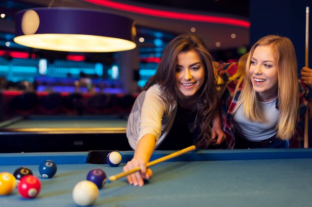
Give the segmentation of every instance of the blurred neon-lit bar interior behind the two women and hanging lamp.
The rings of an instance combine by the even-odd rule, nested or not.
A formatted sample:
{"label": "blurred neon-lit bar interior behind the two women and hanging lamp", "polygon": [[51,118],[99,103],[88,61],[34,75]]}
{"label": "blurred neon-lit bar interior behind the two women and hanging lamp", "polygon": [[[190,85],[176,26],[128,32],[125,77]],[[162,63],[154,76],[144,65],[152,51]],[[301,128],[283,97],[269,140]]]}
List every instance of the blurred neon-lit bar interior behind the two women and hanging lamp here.
{"label": "blurred neon-lit bar interior behind the two women and hanging lamp", "polygon": [[[238,61],[265,35],[287,36],[300,72],[309,5],[311,0],[1,0],[0,152],[131,149],[125,127],[132,104],[155,73],[164,47],[182,33],[200,36],[215,60],[223,62]],[[136,47],[72,52],[13,41],[16,13],[57,7],[132,19],[127,32]],[[123,34],[121,24],[109,27],[98,29],[121,29]]]}

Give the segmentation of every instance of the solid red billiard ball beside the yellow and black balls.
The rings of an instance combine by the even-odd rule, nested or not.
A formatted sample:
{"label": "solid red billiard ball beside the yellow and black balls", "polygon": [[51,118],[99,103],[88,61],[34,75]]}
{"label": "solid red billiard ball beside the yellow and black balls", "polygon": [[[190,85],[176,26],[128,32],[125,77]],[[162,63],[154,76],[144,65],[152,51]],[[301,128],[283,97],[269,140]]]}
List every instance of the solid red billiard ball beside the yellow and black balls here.
{"label": "solid red billiard ball beside the yellow and black balls", "polygon": [[38,178],[33,175],[26,175],[20,179],[18,185],[18,193],[26,198],[35,198],[41,189],[41,183]]}

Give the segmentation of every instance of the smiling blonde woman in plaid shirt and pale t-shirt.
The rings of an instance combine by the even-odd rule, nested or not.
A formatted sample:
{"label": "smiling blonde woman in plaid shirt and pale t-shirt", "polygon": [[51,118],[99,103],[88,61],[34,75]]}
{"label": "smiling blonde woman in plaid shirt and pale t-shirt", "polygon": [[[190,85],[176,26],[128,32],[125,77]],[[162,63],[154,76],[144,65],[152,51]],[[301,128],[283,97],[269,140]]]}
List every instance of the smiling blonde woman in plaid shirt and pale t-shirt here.
{"label": "smiling blonde woman in plaid shirt and pale t-shirt", "polygon": [[218,68],[227,81],[223,130],[232,138],[232,146],[303,147],[308,90],[297,77],[291,40],[265,36],[240,62],[243,64],[221,64]]}

